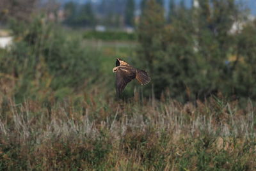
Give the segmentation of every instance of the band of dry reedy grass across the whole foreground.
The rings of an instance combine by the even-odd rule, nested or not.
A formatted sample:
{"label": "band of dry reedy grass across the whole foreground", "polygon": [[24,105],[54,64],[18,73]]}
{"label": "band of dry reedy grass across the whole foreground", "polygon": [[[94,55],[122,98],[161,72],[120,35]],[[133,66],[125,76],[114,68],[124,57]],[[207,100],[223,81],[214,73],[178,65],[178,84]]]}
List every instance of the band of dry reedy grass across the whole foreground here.
{"label": "band of dry reedy grass across the whole foreground", "polygon": [[1,98],[0,170],[255,170],[255,106]]}

